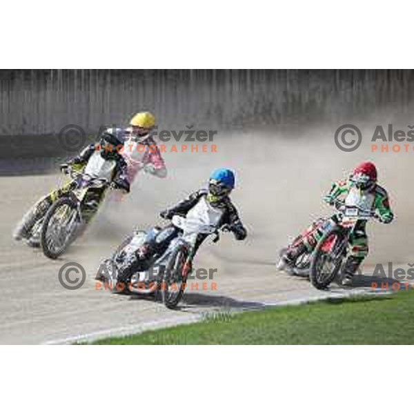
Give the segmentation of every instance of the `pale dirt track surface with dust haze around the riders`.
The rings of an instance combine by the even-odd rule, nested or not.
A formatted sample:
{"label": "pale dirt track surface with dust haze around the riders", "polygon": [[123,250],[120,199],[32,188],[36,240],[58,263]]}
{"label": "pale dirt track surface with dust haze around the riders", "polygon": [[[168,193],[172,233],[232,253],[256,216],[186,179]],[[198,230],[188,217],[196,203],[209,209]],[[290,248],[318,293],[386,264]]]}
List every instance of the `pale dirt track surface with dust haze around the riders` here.
{"label": "pale dirt track surface with dust haze around the riders", "polygon": [[[332,130],[318,131],[332,136]],[[403,179],[411,177],[411,154],[373,156],[366,148],[355,153],[337,150],[332,139],[299,140],[295,144],[277,137],[225,137],[217,141],[217,153],[168,153],[168,178],[142,176],[124,201],[106,200],[88,233],[57,261],[13,242],[12,228],[21,215],[59,181],[57,175],[1,177],[0,228],[0,343],[39,344],[65,342],[83,335],[128,333],[140,328],[188,322],[217,308],[259,308],[288,300],[335,295],[321,293],[305,279],[275,270],[275,255],[289,237],[311,219],[326,215],[322,194],[333,179],[345,176],[357,161],[374,159],[390,190],[397,220],[392,226],[371,226],[371,255],[366,268],[377,262],[413,262],[412,195]],[[324,160],[321,162],[321,160]],[[100,259],[130,232],[160,223],[159,210],[196,190],[206,182],[212,168],[229,166],[237,171],[233,201],[239,208],[249,237],[236,242],[223,235],[217,245],[205,245],[197,267],[217,268],[217,290],[188,288],[177,311],[168,311],[152,299],[111,295],[95,288]],[[410,188],[411,190],[411,188]],[[398,200],[398,204],[396,204]],[[78,290],[64,289],[59,268],[79,262],[86,268],[86,283]],[[197,282],[197,281],[195,281]],[[87,336],[88,337],[88,336]]]}

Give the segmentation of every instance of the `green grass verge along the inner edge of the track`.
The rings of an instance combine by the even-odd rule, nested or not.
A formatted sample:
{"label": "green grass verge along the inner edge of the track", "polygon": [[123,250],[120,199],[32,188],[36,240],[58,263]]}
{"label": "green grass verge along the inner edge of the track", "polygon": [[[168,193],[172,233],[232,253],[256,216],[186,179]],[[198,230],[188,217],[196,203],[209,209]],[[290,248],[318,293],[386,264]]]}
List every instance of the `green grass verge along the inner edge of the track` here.
{"label": "green grass verge along the inner edge of the track", "polygon": [[95,344],[414,344],[414,292],[219,313]]}

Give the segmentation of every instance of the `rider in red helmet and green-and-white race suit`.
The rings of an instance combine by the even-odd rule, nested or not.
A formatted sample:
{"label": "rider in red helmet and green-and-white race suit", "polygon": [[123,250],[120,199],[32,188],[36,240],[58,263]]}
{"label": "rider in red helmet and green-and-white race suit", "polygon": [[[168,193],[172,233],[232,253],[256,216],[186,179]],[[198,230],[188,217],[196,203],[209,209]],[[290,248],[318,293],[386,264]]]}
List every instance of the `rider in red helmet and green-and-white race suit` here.
{"label": "rider in red helmet and green-and-white race suit", "polygon": [[[335,201],[339,199],[347,205],[375,211],[382,223],[388,224],[393,221],[388,194],[377,184],[377,168],[371,161],[359,164],[348,179],[335,182],[331,191],[324,197],[324,201],[331,205],[335,205]],[[322,230],[315,228],[315,231],[309,233],[303,243],[286,252],[282,257],[281,268],[291,266],[304,252],[311,253],[322,236]],[[344,278],[342,279],[342,284],[346,286],[352,285],[353,275],[368,255],[366,220],[361,219],[357,222],[351,234],[350,243],[351,255],[348,256],[344,266]]]}

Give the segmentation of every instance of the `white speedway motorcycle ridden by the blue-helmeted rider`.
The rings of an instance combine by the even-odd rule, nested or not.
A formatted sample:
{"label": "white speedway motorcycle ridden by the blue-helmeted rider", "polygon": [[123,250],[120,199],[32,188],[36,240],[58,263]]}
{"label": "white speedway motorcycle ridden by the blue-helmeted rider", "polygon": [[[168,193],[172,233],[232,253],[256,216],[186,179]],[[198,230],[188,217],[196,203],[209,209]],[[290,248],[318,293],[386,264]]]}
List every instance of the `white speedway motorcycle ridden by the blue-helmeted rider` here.
{"label": "white speedway motorcycle ridden by the blue-helmeted rider", "polygon": [[227,231],[228,228],[217,229],[203,217],[175,215],[171,221],[179,233],[164,251],[161,247],[159,250],[155,248],[150,259],[139,259],[137,250],[163,230],[157,226],[150,230],[135,230],[110,259],[102,262],[96,279],[103,279],[114,293],[160,296],[167,308],[175,308],[184,295],[186,280],[193,268],[197,236],[211,236],[216,243],[219,230]]}

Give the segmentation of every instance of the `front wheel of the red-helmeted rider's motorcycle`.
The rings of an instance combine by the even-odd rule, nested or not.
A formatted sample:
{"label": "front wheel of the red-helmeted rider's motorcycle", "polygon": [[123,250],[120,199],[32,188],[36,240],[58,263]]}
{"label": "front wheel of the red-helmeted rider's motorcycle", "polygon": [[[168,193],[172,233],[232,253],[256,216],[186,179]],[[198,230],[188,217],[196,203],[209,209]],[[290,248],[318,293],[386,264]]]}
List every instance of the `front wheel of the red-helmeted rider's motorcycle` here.
{"label": "front wheel of the red-helmeted rider's motorcycle", "polygon": [[319,240],[315,248],[309,277],[317,289],[326,289],[337,277],[346,255],[348,238],[341,228],[333,228]]}

